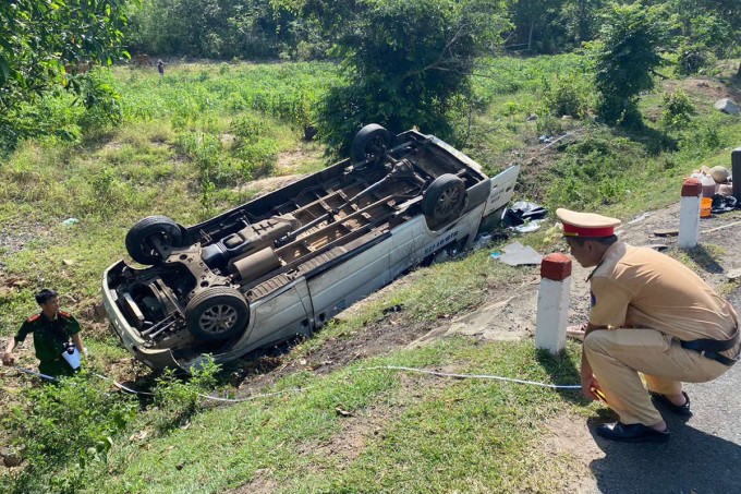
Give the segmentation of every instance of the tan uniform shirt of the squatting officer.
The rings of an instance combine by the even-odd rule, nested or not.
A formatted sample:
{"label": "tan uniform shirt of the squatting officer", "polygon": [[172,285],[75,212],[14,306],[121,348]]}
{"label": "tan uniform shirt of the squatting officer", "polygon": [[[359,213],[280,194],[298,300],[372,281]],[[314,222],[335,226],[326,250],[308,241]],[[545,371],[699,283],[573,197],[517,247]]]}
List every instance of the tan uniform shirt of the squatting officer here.
{"label": "tan uniform shirt of the squatting officer", "polygon": [[[726,340],[738,325],[731,304],[678,261],[616,242],[591,276],[596,326],[648,327],[682,341]],[[731,358],[738,347],[722,352]]]}

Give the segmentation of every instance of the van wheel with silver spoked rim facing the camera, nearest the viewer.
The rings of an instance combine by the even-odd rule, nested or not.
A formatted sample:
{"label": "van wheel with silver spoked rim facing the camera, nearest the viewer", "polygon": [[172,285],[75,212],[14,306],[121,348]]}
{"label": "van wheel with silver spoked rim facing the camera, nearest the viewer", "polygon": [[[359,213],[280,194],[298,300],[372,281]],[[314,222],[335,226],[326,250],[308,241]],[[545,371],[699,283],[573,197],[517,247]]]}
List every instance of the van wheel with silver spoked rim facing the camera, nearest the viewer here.
{"label": "van wheel with silver spoked rim facing the camera, nearest the viewer", "polygon": [[250,306],[236,288],[210,287],[187,302],[185,322],[201,341],[221,341],[244,330]]}

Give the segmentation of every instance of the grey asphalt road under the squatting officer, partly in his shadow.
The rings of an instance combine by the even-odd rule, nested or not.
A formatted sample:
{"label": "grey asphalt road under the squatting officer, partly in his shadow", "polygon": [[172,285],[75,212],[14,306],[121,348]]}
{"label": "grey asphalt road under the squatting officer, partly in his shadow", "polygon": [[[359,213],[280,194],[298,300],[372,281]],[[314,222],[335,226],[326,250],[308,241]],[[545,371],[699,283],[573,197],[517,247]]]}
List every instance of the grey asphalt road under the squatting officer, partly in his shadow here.
{"label": "grey asphalt road under the squatting officer, partly in his shadow", "polygon": [[[741,289],[730,296],[741,313]],[[660,410],[668,444],[621,444],[594,433],[605,457],[592,461],[597,492],[608,494],[741,494],[741,363],[716,381],[687,384],[693,415]]]}

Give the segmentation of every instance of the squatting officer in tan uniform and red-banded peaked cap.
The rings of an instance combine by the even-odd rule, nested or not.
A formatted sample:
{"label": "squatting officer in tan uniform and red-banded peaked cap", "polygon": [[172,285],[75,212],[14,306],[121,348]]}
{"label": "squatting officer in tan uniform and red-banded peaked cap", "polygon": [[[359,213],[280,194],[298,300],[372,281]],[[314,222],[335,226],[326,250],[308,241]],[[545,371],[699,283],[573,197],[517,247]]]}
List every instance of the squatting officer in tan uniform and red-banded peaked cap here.
{"label": "squatting officer in tan uniform and red-banded peaked cap", "polygon": [[[582,393],[604,399],[620,418],[597,434],[664,443],[669,431],[655,405],[692,414],[682,382],[713,381],[739,360],[738,315],[689,267],[618,240],[619,219],[562,208],[556,215],[571,255],[594,267],[590,321],[581,330]],[[570,328],[572,338],[579,333]]]}

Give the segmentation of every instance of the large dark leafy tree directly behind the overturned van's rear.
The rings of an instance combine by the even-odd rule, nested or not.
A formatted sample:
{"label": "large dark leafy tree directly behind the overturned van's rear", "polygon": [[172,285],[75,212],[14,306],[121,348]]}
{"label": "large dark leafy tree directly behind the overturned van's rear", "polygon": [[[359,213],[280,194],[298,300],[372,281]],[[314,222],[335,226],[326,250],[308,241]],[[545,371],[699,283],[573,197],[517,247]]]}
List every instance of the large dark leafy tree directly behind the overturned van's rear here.
{"label": "large dark leafy tree directly behind the overturned van's rear", "polygon": [[[286,3],[284,3],[286,5]],[[491,0],[306,0],[337,39],[348,83],[320,105],[319,133],[331,147],[366,123],[391,132],[417,125],[452,136],[450,111],[470,94],[476,59],[501,41],[503,4]]]}

